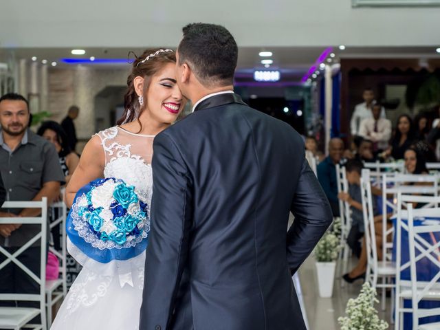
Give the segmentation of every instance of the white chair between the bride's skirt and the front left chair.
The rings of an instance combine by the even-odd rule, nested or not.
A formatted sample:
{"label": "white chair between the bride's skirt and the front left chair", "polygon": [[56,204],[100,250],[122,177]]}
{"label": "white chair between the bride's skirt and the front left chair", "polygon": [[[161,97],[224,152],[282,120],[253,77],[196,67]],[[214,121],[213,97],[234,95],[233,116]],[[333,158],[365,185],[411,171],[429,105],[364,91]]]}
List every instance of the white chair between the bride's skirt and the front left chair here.
{"label": "white chair between the bride's skirt and the front left chair", "polygon": [[[58,303],[59,300],[65,298],[67,294],[67,248],[66,248],[66,216],[67,208],[63,201],[58,201],[57,203],[52,203],[52,215],[55,217],[55,210],[58,209],[58,219],[55,219],[50,223],[50,229],[54,228],[56,225],[61,224],[62,230],[62,242],[61,242],[61,252],[50,247],[49,250],[56,255],[58,261],[60,262],[60,277],[56,280],[46,281],[46,308],[47,308],[47,328],[50,329],[52,325],[52,307]],[[60,290],[61,289],[61,290]]]}

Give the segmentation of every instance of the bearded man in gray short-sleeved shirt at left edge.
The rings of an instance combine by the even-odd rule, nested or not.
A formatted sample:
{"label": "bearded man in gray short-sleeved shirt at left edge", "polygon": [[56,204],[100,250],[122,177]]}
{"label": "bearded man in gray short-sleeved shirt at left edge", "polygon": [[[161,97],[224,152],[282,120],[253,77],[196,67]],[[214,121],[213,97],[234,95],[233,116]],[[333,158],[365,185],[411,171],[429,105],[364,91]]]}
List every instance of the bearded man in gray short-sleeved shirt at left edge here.
{"label": "bearded man in gray short-sleeved shirt at left edge", "polygon": [[[28,129],[29,118],[28,100],[23,96],[5,94],[0,98],[0,173],[6,200],[41,201],[47,197],[47,202],[52,203],[60,194],[63,172],[54,146]],[[0,217],[36,217],[39,213],[39,209],[32,208],[0,209]],[[39,225],[0,224],[0,245],[14,253],[40,230]],[[38,276],[39,245],[37,241],[18,257]],[[5,256],[1,254],[0,263],[3,260]],[[38,292],[35,281],[14,263],[0,270],[0,294]]]}

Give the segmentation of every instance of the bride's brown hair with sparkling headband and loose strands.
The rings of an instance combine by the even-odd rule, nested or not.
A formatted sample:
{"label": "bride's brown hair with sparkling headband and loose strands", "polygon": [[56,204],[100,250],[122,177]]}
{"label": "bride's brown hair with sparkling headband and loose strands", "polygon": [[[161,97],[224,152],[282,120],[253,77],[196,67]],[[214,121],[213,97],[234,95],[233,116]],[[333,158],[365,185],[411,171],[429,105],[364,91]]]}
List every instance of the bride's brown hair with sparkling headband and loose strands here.
{"label": "bride's brown hair with sparkling headband and loose strands", "polygon": [[[131,53],[134,54],[133,52]],[[176,63],[175,53],[166,48],[150,48],[144,50],[141,56],[137,57],[135,54],[134,56],[135,61],[133,61],[131,73],[126,80],[127,88],[124,96],[124,113],[118,120],[118,125],[124,124],[125,122],[132,122],[135,119],[139,121],[139,116],[145,109],[145,107],[141,107],[139,104],[139,96],[136,94],[133,80],[137,76],[144,78],[144,91],[142,96],[146,96],[146,91],[151,83],[151,77],[157,74],[166,64]],[[145,98],[144,104],[146,104]],[[140,122],[139,124],[142,130],[142,124]]]}

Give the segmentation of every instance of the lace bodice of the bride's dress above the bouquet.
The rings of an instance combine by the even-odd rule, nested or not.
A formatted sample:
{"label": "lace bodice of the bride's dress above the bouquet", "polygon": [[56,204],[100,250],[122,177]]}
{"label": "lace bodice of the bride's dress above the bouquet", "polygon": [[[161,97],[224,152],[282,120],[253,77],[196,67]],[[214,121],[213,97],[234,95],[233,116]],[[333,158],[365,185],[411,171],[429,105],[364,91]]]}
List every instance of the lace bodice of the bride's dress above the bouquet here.
{"label": "lace bodice of the bride's dress above the bouquet", "polygon": [[105,153],[104,177],[122,179],[135,187],[137,195],[151,205],[153,193],[153,157],[154,135],[131,133],[114,126],[100,131]]}

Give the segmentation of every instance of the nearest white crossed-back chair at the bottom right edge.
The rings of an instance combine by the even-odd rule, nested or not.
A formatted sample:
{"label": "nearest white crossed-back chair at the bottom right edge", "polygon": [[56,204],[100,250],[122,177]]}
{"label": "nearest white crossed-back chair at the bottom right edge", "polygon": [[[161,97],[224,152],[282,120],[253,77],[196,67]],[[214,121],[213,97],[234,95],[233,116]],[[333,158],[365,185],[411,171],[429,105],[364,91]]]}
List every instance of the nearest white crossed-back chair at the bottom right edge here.
{"label": "nearest white crossed-back chair at the bottom right edge", "polygon": [[[440,223],[428,225],[414,225],[415,217],[439,217],[440,208],[424,208],[413,210],[412,205],[408,204],[408,231],[409,231],[409,245],[410,245],[410,271],[411,271],[411,289],[412,289],[412,329],[418,330],[435,330],[440,329],[440,322],[432,322],[425,325],[419,325],[420,318],[428,316],[439,316],[440,308],[419,308],[419,302],[426,300],[431,292],[438,292],[440,279],[440,240],[437,242],[432,239],[423,239],[420,234],[440,232]],[[419,255],[416,257],[416,252]],[[434,254],[435,256],[433,256]],[[437,275],[430,281],[417,281],[417,261],[427,258],[432,265],[438,268]]]}

